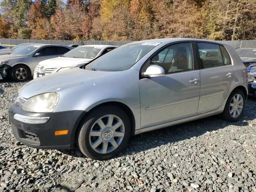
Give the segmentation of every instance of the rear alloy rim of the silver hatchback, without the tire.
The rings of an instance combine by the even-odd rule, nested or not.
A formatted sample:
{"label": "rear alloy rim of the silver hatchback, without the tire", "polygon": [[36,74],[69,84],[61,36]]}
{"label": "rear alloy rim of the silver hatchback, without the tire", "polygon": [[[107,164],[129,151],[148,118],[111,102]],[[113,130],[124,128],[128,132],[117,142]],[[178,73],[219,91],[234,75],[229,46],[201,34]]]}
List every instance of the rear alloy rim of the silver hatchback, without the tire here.
{"label": "rear alloy rim of the silver hatchback, without the tire", "polygon": [[230,102],[229,112],[232,118],[240,116],[244,107],[243,97],[240,94],[234,95]]}

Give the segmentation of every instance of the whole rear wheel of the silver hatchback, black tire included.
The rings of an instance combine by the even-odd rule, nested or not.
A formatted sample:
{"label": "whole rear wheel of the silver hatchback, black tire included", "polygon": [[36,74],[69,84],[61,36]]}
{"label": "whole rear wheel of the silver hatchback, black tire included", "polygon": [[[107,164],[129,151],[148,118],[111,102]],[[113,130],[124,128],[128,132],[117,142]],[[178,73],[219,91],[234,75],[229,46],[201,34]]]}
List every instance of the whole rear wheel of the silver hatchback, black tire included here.
{"label": "whole rear wheel of the silver hatchback, black tire included", "polygon": [[[240,98],[242,97],[242,101],[240,100],[240,98],[238,99],[238,101],[234,101],[234,99],[237,98],[236,97],[237,95],[240,95]],[[224,111],[221,114],[222,119],[229,121],[229,122],[238,121],[244,113],[245,100],[246,100],[246,97],[244,95],[244,92],[242,92],[242,90],[240,90],[240,89],[234,90],[228,97]],[[238,104],[238,102],[241,102],[241,103]],[[233,105],[234,105],[233,107],[231,106],[231,103],[233,103]],[[236,107],[236,104],[238,104],[237,107]],[[240,110],[239,106],[242,106],[242,110]],[[236,109],[238,109],[240,111],[240,113],[238,114],[238,112],[232,112],[232,108],[234,109],[234,111],[236,111]],[[234,115],[234,113],[236,113],[236,114]]]}

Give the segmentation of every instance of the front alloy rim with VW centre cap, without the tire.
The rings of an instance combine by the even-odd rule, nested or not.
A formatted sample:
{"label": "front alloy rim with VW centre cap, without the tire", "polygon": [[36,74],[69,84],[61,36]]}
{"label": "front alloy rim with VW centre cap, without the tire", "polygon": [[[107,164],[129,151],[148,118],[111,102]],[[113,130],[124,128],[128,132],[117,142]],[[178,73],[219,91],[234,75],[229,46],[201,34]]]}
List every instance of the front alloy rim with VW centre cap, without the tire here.
{"label": "front alloy rim with VW centre cap, without the tire", "polygon": [[120,117],[113,114],[102,116],[90,129],[90,146],[97,153],[110,153],[120,146],[124,132],[124,122]]}

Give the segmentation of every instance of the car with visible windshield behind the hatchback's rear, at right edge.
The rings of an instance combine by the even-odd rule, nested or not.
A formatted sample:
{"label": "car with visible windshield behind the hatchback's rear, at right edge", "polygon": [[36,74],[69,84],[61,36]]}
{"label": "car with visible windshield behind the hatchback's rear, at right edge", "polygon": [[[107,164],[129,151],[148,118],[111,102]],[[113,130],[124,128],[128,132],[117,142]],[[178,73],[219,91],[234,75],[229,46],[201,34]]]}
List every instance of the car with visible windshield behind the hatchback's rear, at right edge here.
{"label": "car with visible windshield behind the hatchback's rear, at right edge", "polygon": [[250,72],[252,67],[256,66],[256,48],[238,48],[236,52]]}

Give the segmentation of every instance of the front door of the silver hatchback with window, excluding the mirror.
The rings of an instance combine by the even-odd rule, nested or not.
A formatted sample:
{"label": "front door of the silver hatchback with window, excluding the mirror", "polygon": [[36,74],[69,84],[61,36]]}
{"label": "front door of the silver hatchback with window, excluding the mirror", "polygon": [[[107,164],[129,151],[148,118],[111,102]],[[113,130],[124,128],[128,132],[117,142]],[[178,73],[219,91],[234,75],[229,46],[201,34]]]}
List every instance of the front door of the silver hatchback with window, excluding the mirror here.
{"label": "front door of the silver hatchback with window, excluding the mirror", "polygon": [[142,67],[164,68],[165,76],[140,79],[141,127],[146,128],[197,114],[200,74],[190,42],[163,48]]}

